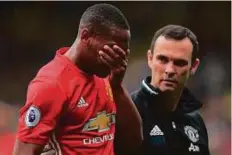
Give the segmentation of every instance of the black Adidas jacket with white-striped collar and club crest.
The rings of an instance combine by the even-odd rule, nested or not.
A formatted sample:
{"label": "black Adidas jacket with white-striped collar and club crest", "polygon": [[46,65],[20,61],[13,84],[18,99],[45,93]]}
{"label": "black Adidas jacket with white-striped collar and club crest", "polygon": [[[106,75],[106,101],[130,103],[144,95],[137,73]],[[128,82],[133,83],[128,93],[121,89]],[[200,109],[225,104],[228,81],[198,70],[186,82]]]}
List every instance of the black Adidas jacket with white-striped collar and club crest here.
{"label": "black Adidas jacket with white-striped collar and club crest", "polygon": [[168,112],[162,104],[164,96],[150,80],[143,80],[141,89],[131,95],[143,120],[140,154],[209,155],[208,134],[199,113],[202,104],[185,88],[176,110]]}

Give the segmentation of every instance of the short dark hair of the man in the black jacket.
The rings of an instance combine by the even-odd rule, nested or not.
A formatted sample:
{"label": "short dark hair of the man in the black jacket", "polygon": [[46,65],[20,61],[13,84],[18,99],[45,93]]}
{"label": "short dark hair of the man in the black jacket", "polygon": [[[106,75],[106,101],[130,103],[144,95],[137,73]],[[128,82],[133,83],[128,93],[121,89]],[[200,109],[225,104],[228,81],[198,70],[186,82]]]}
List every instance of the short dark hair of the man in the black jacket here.
{"label": "short dark hair of the man in the black jacket", "polygon": [[155,42],[159,36],[164,36],[167,39],[174,40],[182,40],[184,38],[189,38],[193,45],[193,53],[192,53],[192,62],[196,60],[198,57],[199,44],[197,41],[196,35],[188,28],[183,27],[181,25],[166,25],[160,28],[153,36],[151,42],[151,52],[153,53]]}

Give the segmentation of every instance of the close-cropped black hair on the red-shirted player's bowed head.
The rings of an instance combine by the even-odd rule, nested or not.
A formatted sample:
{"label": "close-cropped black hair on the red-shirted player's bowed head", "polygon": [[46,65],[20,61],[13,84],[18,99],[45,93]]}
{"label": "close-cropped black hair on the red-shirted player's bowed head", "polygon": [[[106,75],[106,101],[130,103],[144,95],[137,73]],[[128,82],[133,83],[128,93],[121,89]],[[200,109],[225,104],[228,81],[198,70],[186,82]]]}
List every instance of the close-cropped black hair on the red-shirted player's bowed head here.
{"label": "close-cropped black hair on the red-shirted player's bowed head", "polygon": [[115,6],[100,3],[90,6],[82,14],[80,26],[90,26],[99,31],[112,27],[130,30],[129,23],[123,13]]}

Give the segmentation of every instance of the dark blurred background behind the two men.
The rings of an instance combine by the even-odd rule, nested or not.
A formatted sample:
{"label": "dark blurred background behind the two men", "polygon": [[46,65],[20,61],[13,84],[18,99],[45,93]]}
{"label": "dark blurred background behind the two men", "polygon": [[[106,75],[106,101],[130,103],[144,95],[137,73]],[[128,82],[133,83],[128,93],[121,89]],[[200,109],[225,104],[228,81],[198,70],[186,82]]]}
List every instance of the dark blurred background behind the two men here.
{"label": "dark blurred background behind the two men", "polygon": [[[0,155],[11,154],[18,110],[29,81],[70,46],[81,14],[97,1],[0,2]],[[156,30],[166,24],[190,28],[198,37],[201,66],[188,83],[204,103],[212,155],[231,150],[231,2],[108,1],[127,17],[131,56],[124,83],[131,92],[150,74],[146,51]]]}

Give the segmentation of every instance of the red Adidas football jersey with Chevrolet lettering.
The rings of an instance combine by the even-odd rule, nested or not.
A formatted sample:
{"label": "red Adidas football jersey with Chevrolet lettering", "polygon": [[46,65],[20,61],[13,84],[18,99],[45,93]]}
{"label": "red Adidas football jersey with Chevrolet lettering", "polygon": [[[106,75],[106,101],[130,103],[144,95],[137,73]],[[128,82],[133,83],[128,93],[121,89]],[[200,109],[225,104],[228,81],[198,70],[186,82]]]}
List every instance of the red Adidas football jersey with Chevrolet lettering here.
{"label": "red Adidas football jersey with Chevrolet lettering", "polygon": [[28,87],[17,137],[58,155],[113,155],[116,106],[107,79],[89,76],[57,51]]}

